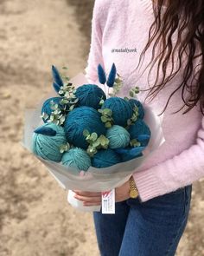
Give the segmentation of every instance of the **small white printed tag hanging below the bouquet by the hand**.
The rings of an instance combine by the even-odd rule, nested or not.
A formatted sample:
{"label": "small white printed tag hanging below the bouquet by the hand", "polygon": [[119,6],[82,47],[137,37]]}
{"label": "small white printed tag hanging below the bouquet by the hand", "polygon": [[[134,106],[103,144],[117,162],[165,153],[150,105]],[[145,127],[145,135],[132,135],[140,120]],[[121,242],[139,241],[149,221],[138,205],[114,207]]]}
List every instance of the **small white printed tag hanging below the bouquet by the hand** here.
{"label": "small white printed tag hanging below the bouquet by the hand", "polygon": [[115,189],[101,193],[102,213],[115,214]]}

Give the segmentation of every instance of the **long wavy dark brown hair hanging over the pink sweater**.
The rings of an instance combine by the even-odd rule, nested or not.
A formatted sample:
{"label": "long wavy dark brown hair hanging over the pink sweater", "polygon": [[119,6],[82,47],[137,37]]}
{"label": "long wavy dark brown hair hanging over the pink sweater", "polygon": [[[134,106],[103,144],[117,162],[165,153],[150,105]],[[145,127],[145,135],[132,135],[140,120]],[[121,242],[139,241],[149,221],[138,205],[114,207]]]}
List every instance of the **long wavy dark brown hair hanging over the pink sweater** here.
{"label": "long wavy dark brown hair hanging over the pink sweater", "polygon": [[[163,9],[164,3],[165,9]],[[155,40],[150,60],[150,63],[152,63],[150,70],[158,61],[157,74],[156,81],[150,88],[147,97],[153,100],[165,84],[175,77],[177,73],[181,72],[184,68],[182,66],[182,57],[187,55],[182,82],[169,95],[163,112],[167,108],[170,98],[178,90],[181,90],[182,108],[187,107],[182,113],[186,114],[199,103],[201,113],[204,115],[204,0],[157,0],[157,3],[153,3],[153,10],[155,20],[150,26],[148,43],[139,58],[140,63],[146,50]],[[172,35],[175,30],[178,36],[177,42],[173,47]],[[162,50],[158,56],[155,56],[156,47],[159,43],[162,43]],[[176,49],[177,52],[175,51]],[[179,61],[178,68],[174,72],[171,69],[170,74],[167,75],[168,63],[174,62],[176,56],[178,56]],[[194,65],[195,60],[197,61],[196,66]],[[162,82],[158,82],[161,68],[163,71]],[[188,84],[188,80],[192,75],[194,79],[196,78],[194,86],[191,83]],[[188,92],[188,96],[185,92]],[[178,111],[182,110],[182,108],[179,108]]]}

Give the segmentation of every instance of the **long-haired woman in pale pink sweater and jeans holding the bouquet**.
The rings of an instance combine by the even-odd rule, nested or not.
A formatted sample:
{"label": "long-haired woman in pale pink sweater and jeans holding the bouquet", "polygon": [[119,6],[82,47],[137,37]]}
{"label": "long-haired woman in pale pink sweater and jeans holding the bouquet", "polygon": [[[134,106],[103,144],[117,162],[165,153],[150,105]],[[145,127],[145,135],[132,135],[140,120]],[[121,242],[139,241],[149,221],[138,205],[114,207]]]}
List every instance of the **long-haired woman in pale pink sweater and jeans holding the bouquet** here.
{"label": "long-haired woman in pale pink sweater and jeans holding the bouquet", "polygon": [[[98,64],[108,71],[115,62],[121,95],[138,85],[140,100],[163,113],[166,140],[116,188],[116,214],[94,213],[101,255],[175,255],[191,184],[204,176],[203,13],[203,0],[95,2],[87,78],[97,82]],[[76,198],[101,204],[100,193],[76,191]]]}

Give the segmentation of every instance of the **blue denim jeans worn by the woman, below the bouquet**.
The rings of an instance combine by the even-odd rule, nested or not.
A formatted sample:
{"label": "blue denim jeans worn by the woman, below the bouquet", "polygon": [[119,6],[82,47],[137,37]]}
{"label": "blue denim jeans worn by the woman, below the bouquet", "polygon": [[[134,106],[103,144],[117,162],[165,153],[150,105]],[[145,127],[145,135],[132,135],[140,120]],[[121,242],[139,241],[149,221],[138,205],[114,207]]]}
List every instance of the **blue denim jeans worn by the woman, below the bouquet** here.
{"label": "blue denim jeans worn by the woman, below the bouquet", "polygon": [[94,212],[102,256],[173,256],[188,221],[192,185],[146,202],[116,203],[115,214]]}

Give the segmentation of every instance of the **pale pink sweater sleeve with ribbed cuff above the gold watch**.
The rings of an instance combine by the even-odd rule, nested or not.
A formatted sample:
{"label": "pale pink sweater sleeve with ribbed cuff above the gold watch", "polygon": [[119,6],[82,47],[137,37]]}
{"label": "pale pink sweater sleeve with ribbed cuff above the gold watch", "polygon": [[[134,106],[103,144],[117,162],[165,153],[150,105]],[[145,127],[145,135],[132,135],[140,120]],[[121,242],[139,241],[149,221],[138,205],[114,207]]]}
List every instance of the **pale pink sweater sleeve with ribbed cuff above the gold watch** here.
{"label": "pale pink sweater sleeve with ribbed cuff above the gold watch", "polygon": [[194,145],[167,161],[133,174],[133,177],[142,202],[204,177],[204,117]]}

